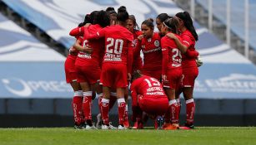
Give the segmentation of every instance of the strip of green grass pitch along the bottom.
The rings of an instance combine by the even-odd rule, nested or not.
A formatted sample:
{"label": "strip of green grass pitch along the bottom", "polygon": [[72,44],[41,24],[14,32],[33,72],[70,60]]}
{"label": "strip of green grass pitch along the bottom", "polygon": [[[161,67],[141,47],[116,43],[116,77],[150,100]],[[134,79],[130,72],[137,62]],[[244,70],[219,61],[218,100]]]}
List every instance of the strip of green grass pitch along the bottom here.
{"label": "strip of green grass pitch along the bottom", "polygon": [[0,128],[0,145],[70,144],[256,144],[256,128],[193,130],[75,130],[73,128]]}

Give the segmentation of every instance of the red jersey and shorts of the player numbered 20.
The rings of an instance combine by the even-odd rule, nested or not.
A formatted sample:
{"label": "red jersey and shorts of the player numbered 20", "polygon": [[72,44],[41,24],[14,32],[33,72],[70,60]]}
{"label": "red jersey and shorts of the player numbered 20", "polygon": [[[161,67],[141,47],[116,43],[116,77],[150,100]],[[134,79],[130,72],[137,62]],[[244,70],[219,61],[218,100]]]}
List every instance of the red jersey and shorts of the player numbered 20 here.
{"label": "red jersey and shorts of the player numbered 20", "polygon": [[[85,30],[85,35],[88,31]],[[88,34],[89,35],[89,34]],[[105,37],[105,55],[101,83],[113,88],[127,87],[127,74],[132,71],[133,34],[120,25],[105,27],[97,35],[89,35],[88,40]]]}

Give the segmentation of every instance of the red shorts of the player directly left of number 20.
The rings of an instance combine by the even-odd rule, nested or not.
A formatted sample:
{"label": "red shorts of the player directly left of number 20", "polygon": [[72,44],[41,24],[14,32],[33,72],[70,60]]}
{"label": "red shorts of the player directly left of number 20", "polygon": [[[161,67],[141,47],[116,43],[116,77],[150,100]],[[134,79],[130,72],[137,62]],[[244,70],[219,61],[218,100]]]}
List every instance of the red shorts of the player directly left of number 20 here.
{"label": "red shorts of the player directly left of number 20", "polygon": [[78,82],[87,82],[90,85],[97,83],[100,78],[101,70],[97,65],[76,65],[78,72]]}

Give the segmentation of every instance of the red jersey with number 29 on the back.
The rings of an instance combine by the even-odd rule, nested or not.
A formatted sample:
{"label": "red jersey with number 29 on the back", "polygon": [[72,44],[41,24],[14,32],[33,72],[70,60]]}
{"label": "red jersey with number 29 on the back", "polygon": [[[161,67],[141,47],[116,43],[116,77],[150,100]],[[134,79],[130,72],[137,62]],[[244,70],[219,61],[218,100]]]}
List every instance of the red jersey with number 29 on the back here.
{"label": "red jersey with number 29 on the back", "polygon": [[[174,35],[179,39],[179,41],[181,41],[181,38],[178,35]],[[178,46],[175,41],[170,39],[168,36],[163,36],[161,39],[161,46],[163,53],[162,74],[166,75],[167,70],[181,68],[182,55],[181,51],[178,50]]]}

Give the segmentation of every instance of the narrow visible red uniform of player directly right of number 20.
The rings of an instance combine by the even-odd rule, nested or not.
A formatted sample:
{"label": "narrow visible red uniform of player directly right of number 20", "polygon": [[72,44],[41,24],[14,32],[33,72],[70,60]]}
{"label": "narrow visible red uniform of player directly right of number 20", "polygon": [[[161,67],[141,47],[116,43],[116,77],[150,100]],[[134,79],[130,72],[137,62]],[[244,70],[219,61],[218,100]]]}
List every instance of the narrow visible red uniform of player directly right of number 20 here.
{"label": "narrow visible red uniform of player directly right of number 20", "polygon": [[[143,60],[140,56],[140,50],[139,52],[136,52],[136,47],[138,46],[138,36],[142,35],[142,31],[134,30],[133,33],[133,71],[134,70],[142,70],[143,69]],[[136,56],[137,55],[137,56]]]}

